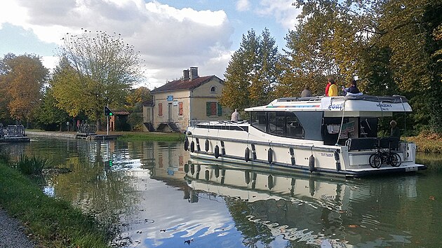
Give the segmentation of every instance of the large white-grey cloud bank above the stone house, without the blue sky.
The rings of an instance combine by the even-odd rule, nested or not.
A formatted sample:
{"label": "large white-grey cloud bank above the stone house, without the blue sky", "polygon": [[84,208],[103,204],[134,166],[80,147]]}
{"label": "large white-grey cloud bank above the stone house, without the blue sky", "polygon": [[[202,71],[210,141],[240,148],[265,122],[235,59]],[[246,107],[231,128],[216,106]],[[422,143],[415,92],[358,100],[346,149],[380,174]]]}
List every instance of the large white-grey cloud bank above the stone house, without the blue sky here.
{"label": "large white-grey cloud bank above the stone house, without the blue sky", "polygon": [[182,70],[192,66],[199,67],[201,76],[222,78],[233,34],[224,11],[178,9],[143,0],[8,0],[0,4],[0,28],[5,22],[57,44],[66,33],[79,33],[81,28],[119,33],[140,50],[149,88],[180,78]]}

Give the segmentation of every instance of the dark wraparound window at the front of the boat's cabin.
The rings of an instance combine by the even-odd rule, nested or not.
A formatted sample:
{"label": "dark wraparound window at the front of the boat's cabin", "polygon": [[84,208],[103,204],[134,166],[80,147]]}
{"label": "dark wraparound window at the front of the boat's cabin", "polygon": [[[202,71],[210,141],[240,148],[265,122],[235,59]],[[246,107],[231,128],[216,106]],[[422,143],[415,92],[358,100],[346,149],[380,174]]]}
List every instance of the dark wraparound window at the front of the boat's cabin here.
{"label": "dark wraparound window at the front of the boat's cabin", "polygon": [[250,124],[271,135],[304,139],[305,131],[293,112],[260,111],[250,112]]}

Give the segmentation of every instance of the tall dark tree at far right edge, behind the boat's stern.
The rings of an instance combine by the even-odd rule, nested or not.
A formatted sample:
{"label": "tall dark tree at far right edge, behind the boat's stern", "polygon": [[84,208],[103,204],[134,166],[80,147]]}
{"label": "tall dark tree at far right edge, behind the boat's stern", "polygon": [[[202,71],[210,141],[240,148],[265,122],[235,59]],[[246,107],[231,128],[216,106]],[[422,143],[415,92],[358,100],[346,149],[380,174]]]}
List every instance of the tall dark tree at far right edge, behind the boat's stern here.
{"label": "tall dark tree at far right edge, behind the boat's stern", "polygon": [[[410,99],[415,113],[408,127],[442,132],[440,1],[386,1],[377,8],[380,32],[372,43],[389,49],[388,68],[398,93]],[[410,124],[410,123],[409,123]]]}

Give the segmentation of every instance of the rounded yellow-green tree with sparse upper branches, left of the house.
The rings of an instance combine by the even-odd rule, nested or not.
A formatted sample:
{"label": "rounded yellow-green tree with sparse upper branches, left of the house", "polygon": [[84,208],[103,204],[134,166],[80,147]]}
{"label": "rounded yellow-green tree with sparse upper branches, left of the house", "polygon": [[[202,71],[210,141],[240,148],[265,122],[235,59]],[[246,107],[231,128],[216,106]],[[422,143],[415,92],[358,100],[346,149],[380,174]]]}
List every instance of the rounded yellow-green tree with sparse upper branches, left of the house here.
{"label": "rounded yellow-green tree with sparse upper branches, left of the house", "polygon": [[123,106],[133,83],[142,78],[139,52],[119,34],[67,34],[60,57],[60,73],[53,80],[58,106],[72,116],[83,111],[98,128],[103,106]]}

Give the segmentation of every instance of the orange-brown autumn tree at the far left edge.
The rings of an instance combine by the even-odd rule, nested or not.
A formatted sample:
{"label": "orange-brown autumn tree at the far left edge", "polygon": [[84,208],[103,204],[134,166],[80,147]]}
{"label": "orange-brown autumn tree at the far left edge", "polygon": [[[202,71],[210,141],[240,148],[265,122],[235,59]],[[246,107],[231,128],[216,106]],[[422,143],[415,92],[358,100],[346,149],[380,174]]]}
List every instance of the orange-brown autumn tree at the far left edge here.
{"label": "orange-brown autumn tree at the far left edge", "polygon": [[48,69],[36,55],[5,55],[1,61],[0,85],[5,97],[2,105],[7,105],[11,118],[32,120],[39,107],[43,85],[47,80]]}

